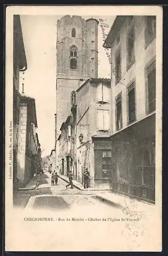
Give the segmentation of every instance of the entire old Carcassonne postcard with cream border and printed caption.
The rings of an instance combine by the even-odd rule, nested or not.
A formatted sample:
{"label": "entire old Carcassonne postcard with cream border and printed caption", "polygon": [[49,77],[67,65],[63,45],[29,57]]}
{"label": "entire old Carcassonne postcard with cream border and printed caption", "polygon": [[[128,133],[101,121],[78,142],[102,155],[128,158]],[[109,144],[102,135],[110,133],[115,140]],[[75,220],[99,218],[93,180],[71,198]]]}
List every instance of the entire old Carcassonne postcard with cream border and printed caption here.
{"label": "entire old Carcassonne postcard with cream border and printed caption", "polygon": [[161,7],[8,7],[6,251],[161,251],[161,119]]}

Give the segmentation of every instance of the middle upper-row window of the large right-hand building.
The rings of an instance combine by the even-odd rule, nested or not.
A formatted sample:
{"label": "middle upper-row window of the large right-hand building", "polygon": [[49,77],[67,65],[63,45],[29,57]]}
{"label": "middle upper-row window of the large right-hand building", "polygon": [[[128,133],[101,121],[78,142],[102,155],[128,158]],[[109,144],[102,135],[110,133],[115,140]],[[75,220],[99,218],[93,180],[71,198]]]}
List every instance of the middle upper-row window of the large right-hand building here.
{"label": "middle upper-row window of the large right-hand building", "polygon": [[127,35],[127,69],[129,69],[135,60],[134,49],[134,30],[133,28]]}

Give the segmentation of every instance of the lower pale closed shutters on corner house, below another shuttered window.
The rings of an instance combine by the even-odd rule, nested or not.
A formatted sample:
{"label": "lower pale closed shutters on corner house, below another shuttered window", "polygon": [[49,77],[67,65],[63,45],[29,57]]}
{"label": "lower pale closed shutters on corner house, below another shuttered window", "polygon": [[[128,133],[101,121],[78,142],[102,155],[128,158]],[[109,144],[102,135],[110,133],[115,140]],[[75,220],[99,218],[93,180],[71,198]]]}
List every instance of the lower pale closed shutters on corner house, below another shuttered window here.
{"label": "lower pale closed shutters on corner house, below another shuttered window", "polygon": [[110,118],[108,110],[97,110],[97,129],[99,131],[110,130]]}

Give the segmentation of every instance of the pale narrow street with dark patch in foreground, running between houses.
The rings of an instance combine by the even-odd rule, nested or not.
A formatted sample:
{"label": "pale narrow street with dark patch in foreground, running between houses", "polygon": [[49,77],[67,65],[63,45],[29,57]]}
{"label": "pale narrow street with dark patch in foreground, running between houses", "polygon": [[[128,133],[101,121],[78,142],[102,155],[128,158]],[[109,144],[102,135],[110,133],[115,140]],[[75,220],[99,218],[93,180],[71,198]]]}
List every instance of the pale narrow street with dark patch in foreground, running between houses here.
{"label": "pale narrow street with dark patch in foreground, running between houses", "polygon": [[68,183],[58,179],[58,185],[51,186],[51,175],[47,172],[41,175],[37,188],[27,191],[19,191],[20,195],[30,195],[30,199],[25,206],[25,209],[36,210],[75,210],[75,212],[81,212],[81,208],[85,210],[89,207],[90,211],[97,212],[97,210],[107,211],[111,213],[111,210],[120,212],[121,210],[115,207],[103,203],[98,200],[95,195],[97,191],[79,190],[77,188],[66,188]]}

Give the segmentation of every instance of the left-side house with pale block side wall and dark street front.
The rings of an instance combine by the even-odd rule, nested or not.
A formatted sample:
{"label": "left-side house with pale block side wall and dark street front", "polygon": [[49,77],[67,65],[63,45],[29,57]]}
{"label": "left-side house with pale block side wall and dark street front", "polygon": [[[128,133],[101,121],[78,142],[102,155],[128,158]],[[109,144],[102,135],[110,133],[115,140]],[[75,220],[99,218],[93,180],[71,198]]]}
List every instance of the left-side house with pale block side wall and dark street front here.
{"label": "left-side house with pale block side wall and dark street front", "polygon": [[36,128],[37,117],[35,99],[21,95],[17,158],[17,179],[19,186],[25,186],[36,172]]}

